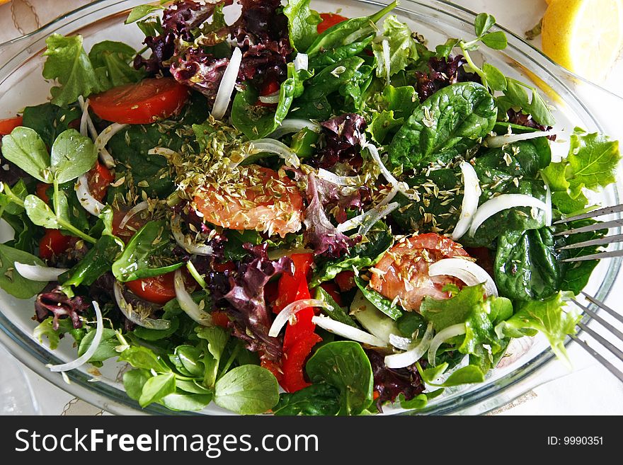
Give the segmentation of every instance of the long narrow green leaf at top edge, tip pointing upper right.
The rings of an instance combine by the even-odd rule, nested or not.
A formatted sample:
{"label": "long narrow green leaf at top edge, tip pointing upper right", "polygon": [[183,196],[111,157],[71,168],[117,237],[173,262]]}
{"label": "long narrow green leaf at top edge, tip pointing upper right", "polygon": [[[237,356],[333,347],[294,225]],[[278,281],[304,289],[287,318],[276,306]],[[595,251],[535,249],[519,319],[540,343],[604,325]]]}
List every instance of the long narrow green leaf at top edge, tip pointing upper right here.
{"label": "long narrow green leaf at top edge, tip pointing upper right", "polygon": [[343,21],[328,28],[319,35],[314,42],[309,45],[307,54],[311,58],[314,54],[318,54],[322,50],[333,50],[349,43],[358,42],[362,38],[366,38],[376,33],[375,23],[377,23],[389,11],[393,10],[397,5],[396,1],[386,6],[377,13],[363,17],[352,18]]}

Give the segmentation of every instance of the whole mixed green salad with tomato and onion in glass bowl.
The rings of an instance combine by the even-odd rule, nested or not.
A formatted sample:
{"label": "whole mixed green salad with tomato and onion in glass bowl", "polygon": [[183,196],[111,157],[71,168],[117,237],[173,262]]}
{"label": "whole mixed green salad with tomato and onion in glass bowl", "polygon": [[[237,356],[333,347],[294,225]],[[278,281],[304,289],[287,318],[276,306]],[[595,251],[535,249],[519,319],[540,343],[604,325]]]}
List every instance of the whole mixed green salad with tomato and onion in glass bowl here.
{"label": "whole mixed green salad with tomato and onion in glass bowl", "polygon": [[47,38],[50,101],[0,122],[0,287],[75,341],[50,369],[126,362],[142,407],[360,415],[484,381],[513,338],[566,358],[597,263],[563,247],[603,231],[556,220],[618,143],[479,63],[493,16],[432,47],[395,6],[178,0],[131,11],[142,50]]}

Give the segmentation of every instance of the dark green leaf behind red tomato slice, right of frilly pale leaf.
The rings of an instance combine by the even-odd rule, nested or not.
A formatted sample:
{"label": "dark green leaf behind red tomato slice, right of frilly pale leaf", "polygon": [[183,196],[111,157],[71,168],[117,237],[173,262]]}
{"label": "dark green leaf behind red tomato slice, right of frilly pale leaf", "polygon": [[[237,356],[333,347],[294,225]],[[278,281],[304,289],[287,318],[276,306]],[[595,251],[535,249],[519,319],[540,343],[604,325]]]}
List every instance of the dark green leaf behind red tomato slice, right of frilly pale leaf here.
{"label": "dark green leaf behind red tomato slice, right of frilly pale leaf", "polygon": [[130,45],[105,40],[91,47],[88,59],[91,60],[101,87],[111,88],[143,79],[144,71],[132,66],[136,54]]}

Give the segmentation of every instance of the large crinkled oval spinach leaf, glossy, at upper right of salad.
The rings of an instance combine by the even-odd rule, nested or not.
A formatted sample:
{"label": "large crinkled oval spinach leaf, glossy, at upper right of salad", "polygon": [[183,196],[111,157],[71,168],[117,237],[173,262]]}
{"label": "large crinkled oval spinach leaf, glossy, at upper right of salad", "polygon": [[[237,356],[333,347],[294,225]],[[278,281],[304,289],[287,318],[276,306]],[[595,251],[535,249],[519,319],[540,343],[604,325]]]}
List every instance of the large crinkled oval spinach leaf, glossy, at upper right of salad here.
{"label": "large crinkled oval spinach leaf, glossy, at upper right of salad", "polygon": [[422,103],[389,145],[388,166],[404,170],[425,163],[446,163],[474,147],[493,129],[496,103],[474,82],[452,84]]}

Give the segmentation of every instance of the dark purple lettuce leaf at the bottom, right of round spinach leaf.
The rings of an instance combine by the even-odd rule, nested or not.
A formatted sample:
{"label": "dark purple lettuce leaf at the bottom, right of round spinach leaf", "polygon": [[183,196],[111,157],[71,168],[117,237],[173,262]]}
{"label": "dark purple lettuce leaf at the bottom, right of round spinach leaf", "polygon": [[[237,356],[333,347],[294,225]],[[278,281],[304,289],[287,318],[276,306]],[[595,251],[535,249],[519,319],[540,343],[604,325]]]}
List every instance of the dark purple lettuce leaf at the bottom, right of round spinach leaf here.
{"label": "dark purple lettuce leaf at the bottom, right of round spinach leaf", "polygon": [[374,389],[379,393],[376,400],[379,412],[382,412],[384,403],[394,402],[399,394],[404,394],[405,400],[410,401],[424,391],[425,386],[415,364],[406,368],[387,368],[382,354],[372,349],[365,353],[372,364]]}

